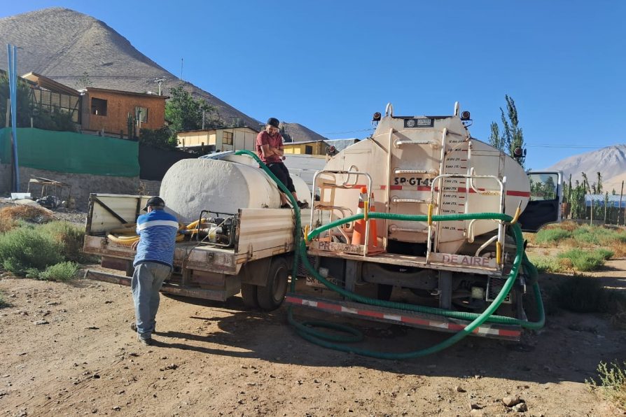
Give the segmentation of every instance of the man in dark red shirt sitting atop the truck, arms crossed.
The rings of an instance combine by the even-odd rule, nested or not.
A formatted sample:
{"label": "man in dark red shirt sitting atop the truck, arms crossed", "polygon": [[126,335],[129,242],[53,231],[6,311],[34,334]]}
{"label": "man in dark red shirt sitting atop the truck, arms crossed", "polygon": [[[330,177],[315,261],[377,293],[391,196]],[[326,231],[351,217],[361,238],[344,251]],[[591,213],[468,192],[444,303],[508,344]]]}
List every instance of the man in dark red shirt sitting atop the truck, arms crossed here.
{"label": "man in dark red shirt sitting atop the truck, arms crossed", "polygon": [[[291,176],[289,176],[289,170],[283,163],[283,137],[279,133],[279,121],[277,118],[270,118],[267,120],[265,130],[260,132],[256,136],[256,153],[260,160],[262,160],[267,168],[272,171],[272,174],[278,178],[281,183],[285,185],[287,190],[291,191],[293,198],[298,202],[298,207],[307,208],[309,204],[307,202],[300,202],[298,195],[295,194],[295,187]],[[281,208],[290,208],[287,197],[280,193]]]}

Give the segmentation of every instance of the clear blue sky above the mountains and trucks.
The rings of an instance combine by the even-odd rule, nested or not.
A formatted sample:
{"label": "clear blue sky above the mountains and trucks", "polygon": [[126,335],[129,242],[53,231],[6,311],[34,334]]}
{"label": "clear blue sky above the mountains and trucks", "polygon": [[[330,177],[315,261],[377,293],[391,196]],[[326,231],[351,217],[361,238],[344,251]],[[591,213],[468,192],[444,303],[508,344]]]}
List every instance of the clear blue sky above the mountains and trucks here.
{"label": "clear blue sky above the mountains and trucks", "polygon": [[626,143],[626,2],[38,1],[96,17],[176,75],[259,120],[333,139],[371,115],[471,111],[487,141],[515,99],[527,167]]}

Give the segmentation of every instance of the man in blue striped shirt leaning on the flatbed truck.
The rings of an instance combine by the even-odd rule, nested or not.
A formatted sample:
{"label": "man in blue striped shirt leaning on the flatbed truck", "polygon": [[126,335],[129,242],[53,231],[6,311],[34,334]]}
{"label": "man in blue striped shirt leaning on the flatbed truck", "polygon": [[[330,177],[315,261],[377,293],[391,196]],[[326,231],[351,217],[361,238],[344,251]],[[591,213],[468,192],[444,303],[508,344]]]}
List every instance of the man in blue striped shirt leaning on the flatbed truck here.
{"label": "man in blue striped shirt leaning on the flatbed truck", "polygon": [[131,328],[137,331],[137,340],[145,345],[152,344],[159,290],[172,272],[179,229],[178,220],[164,208],[165,202],[160,197],[148,199],[144,207],[148,213],[137,218],[139,241],[132,245],[137,255],[130,284],[135,313]]}

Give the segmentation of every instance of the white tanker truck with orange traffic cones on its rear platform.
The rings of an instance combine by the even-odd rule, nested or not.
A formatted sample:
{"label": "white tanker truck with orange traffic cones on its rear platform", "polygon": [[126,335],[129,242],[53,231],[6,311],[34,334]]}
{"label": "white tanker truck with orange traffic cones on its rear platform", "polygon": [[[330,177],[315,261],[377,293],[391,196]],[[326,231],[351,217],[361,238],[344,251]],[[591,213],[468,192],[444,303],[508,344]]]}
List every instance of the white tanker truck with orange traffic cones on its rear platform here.
{"label": "white tanker truck with orange traffic cones on its rear platform", "polygon": [[[333,155],[324,171],[317,173],[313,187],[319,201],[303,219],[307,232],[326,225],[328,218],[358,213],[360,195],[370,196],[375,211],[391,215],[427,218],[430,211],[432,215],[514,217],[519,209],[520,224],[527,231],[560,220],[562,174],[527,174],[517,160],[473,139],[467,129],[470,115],[461,113],[458,103],[449,116],[397,116],[388,104],[385,115],[375,113],[374,121],[377,126],[370,138]],[[531,202],[531,183],[534,190],[541,190],[535,202]],[[515,255],[506,224],[492,219],[432,222],[430,227],[428,221],[378,219],[368,226],[375,233],[365,232],[356,242],[354,223],[323,232],[309,240],[308,255],[331,283],[384,301],[415,296],[415,304],[481,313],[503,288]],[[522,320],[533,313],[522,306],[522,298],[528,298],[524,296],[527,283],[520,274],[499,314]],[[307,279],[307,285],[317,288],[322,297],[329,292],[314,278]],[[287,301],[443,331],[458,330],[463,324],[440,317],[422,320],[406,311],[374,306],[364,309],[361,303],[338,303],[332,297],[290,294]],[[481,335],[505,339],[518,339],[520,332],[515,325],[478,329]]]}

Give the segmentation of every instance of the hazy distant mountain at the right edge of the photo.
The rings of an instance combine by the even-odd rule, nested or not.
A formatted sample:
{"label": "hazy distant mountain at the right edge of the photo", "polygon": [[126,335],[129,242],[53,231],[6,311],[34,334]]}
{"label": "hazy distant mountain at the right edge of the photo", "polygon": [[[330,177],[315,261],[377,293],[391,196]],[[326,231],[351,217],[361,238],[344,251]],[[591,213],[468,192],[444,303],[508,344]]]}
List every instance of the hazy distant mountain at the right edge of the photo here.
{"label": "hazy distant mountain at the right edge of the photo", "polygon": [[[583,172],[587,174],[589,182],[594,183],[597,181],[597,172],[600,172],[602,183],[606,185],[606,188],[613,188],[615,186],[613,183],[621,183],[622,181],[615,179],[615,177],[626,175],[626,145],[607,146],[599,150],[573,155],[560,160],[547,170],[563,171],[565,181],[568,181],[569,174],[571,174],[572,183],[576,180],[583,181]],[[610,187],[609,182],[611,183]]]}

